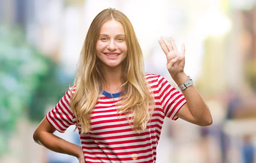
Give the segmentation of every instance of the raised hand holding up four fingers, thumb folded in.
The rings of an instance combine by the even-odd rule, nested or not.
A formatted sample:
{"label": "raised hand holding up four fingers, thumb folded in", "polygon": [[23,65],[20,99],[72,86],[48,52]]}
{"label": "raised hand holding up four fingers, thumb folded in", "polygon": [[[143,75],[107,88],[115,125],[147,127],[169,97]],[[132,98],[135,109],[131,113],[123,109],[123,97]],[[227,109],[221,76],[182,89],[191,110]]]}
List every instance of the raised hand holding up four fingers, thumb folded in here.
{"label": "raised hand holding up four fingers, thumb folded in", "polygon": [[172,37],[170,37],[171,44],[164,38],[158,40],[167,59],[167,69],[172,77],[183,73],[185,66],[185,45],[182,44],[181,52],[178,51],[177,46]]}

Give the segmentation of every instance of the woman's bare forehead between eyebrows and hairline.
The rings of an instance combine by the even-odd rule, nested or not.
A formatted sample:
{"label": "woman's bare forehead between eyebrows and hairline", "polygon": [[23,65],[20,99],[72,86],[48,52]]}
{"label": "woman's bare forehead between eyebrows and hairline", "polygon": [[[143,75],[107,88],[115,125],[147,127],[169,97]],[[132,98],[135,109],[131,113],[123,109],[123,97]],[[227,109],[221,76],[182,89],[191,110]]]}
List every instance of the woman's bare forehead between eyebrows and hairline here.
{"label": "woman's bare forehead between eyebrows and hairline", "polygon": [[119,21],[108,20],[102,24],[100,34],[125,34],[124,27]]}

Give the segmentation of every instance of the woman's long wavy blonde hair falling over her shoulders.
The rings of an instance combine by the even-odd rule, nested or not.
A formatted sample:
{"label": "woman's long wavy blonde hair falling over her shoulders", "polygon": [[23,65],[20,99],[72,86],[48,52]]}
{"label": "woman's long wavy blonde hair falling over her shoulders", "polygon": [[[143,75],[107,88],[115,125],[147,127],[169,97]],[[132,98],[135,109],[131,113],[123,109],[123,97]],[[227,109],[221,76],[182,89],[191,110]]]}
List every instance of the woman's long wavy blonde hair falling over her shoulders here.
{"label": "woman's long wavy blonde hair falling over her shoulders", "polygon": [[127,57],[122,62],[122,100],[118,112],[132,112],[134,130],[140,132],[150,120],[154,99],[145,80],[143,53],[130,20],[115,9],[101,11],[88,29],[80,54],[79,66],[74,85],[76,92],[71,97],[70,106],[76,117],[76,129],[81,125],[81,133],[90,131],[90,114],[99,100],[101,86],[105,82],[96,57],[96,42],[102,24],[108,20],[119,21],[125,30]]}

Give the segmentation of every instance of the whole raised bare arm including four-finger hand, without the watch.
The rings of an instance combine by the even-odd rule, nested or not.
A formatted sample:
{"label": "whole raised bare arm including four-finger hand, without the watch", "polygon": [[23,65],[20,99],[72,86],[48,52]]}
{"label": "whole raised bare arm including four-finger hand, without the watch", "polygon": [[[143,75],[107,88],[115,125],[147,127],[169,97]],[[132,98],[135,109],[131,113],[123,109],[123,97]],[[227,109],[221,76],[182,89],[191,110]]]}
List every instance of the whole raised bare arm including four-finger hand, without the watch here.
{"label": "whole raised bare arm including four-finger hand, without the watch", "polygon": [[[170,37],[171,44],[161,37],[158,40],[163,52],[166,54],[167,69],[177,85],[183,84],[188,76],[184,73],[185,45],[182,44],[181,52],[177,50],[175,41]],[[176,116],[199,126],[212,124],[209,109],[194,85],[182,91],[187,103],[177,112]]]}

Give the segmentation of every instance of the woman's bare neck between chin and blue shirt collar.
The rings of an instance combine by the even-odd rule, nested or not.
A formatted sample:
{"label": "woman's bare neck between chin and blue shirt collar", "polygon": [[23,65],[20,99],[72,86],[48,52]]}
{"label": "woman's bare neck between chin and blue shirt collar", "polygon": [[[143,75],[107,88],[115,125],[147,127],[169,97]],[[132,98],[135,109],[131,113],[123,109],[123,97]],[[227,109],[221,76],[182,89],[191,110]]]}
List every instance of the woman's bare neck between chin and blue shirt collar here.
{"label": "woman's bare neck between chin and blue shirt collar", "polygon": [[105,77],[105,85],[102,89],[108,93],[117,93],[122,91],[122,65],[115,68],[102,67],[102,71]]}

